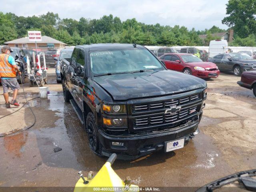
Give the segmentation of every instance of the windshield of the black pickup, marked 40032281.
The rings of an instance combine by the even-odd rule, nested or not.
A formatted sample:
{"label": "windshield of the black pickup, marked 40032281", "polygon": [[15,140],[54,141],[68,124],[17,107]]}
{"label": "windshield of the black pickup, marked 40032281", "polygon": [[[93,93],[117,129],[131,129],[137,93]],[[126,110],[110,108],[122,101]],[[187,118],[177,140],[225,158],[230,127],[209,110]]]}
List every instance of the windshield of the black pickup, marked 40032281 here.
{"label": "windshield of the black pickup, marked 40032281", "polygon": [[160,61],[146,49],[90,52],[90,62],[94,74],[164,69]]}

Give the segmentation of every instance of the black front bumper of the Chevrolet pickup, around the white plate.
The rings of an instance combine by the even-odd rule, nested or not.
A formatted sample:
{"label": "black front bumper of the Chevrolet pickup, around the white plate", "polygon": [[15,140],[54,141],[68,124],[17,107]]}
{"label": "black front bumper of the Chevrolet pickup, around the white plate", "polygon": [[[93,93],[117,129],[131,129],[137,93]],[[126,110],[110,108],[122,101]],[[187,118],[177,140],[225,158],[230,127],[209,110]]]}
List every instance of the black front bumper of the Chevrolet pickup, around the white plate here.
{"label": "black front bumper of the Chevrolet pickup, around the white plate", "polygon": [[[188,142],[190,138],[199,133],[198,124],[202,117],[195,122],[185,124],[182,127],[171,128],[169,130],[154,131],[144,134],[113,136],[102,130],[98,131],[100,143],[103,146],[102,155],[110,156],[112,153],[118,154],[118,158],[130,159],[150,154],[151,152],[164,150],[165,142],[185,138]],[[112,142],[124,143],[123,146],[112,146]]]}

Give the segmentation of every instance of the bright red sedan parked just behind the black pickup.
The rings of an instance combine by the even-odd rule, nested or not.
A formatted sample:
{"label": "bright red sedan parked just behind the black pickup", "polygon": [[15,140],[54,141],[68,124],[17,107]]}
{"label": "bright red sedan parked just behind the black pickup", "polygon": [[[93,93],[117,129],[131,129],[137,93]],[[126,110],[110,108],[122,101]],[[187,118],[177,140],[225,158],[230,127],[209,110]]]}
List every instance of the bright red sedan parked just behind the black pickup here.
{"label": "bright red sedan parked just behind the black pickup", "polygon": [[167,69],[184,72],[200,78],[216,78],[220,74],[216,64],[203,62],[193,54],[164,54],[160,57],[160,60],[164,61]]}

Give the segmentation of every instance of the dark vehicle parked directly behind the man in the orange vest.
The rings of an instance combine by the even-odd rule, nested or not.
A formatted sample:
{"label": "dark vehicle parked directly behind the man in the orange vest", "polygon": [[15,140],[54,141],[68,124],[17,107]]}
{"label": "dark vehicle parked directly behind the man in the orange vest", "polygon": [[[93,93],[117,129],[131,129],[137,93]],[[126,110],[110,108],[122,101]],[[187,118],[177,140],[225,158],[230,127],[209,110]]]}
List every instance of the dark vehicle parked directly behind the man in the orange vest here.
{"label": "dark vehicle parked directly behind the man in the orange vest", "polygon": [[18,66],[22,68],[21,70],[21,75],[17,76],[18,83],[24,83],[25,82],[25,76],[28,75],[27,71],[27,62],[26,62],[26,53],[24,52],[23,49],[18,48],[18,47],[13,47],[11,48],[13,52],[11,52],[11,55],[15,59],[15,62]]}

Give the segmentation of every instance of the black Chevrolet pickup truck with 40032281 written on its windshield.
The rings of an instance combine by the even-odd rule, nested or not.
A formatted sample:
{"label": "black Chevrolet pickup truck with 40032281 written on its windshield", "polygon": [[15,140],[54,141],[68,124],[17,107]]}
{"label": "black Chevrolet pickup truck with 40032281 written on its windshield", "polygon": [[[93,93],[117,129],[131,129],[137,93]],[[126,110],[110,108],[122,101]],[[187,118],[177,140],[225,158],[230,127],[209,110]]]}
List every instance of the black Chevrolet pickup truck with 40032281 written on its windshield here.
{"label": "black Chevrolet pickup truck with 40032281 written on its windshield", "polygon": [[144,46],[76,46],[70,59],[61,60],[60,73],[64,100],[98,155],[169,152],[199,133],[206,82],[167,70]]}

